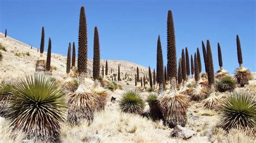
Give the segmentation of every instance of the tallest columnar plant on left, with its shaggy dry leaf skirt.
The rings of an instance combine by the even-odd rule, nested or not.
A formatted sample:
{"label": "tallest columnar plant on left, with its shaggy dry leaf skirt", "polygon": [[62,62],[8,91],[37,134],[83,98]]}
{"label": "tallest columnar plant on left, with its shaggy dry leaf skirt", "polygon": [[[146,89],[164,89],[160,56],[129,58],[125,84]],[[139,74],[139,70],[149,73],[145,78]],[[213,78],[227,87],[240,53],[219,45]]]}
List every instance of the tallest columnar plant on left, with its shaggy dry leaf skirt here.
{"label": "tallest columnar plant on left, with its shaggy dry leaf skirt", "polygon": [[79,125],[84,119],[91,123],[95,111],[104,110],[106,94],[91,92],[85,88],[87,72],[87,26],[84,6],[80,9],[78,35],[79,87],[68,95],[68,120],[71,125]]}

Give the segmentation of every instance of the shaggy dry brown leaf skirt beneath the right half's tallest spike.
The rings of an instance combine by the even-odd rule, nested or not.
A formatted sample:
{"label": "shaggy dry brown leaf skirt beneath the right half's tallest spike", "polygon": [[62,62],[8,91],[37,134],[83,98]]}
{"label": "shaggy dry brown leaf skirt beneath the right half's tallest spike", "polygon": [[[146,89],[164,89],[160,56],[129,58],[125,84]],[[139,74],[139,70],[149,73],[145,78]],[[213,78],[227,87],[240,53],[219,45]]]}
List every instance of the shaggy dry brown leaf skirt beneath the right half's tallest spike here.
{"label": "shaggy dry brown leaf skirt beneath the right half's tallest spike", "polygon": [[176,125],[185,126],[186,112],[190,105],[185,95],[174,94],[160,97],[159,104],[166,125],[171,128]]}

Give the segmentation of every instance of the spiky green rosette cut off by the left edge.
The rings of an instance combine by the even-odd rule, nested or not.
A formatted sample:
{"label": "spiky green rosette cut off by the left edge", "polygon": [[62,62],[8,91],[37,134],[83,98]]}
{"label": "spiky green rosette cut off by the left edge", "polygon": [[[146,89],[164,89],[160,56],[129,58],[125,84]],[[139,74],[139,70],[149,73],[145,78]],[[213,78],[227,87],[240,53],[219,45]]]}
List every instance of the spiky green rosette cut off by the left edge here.
{"label": "spiky green rosette cut off by the left edge", "polygon": [[3,81],[0,84],[0,116],[5,117],[8,103],[12,97],[11,90],[14,88],[12,80]]}

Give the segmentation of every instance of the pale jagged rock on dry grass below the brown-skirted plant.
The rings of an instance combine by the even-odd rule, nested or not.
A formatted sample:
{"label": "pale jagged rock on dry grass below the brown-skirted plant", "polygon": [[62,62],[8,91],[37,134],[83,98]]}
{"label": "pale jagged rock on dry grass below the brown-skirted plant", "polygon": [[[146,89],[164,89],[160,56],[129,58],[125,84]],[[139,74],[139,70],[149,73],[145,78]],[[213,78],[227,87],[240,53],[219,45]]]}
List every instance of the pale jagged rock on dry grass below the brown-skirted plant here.
{"label": "pale jagged rock on dry grass below the brown-skirted plant", "polygon": [[177,126],[174,127],[173,131],[171,132],[171,137],[189,139],[194,134],[196,134],[195,131],[190,130],[186,127],[181,127],[180,125],[177,125]]}

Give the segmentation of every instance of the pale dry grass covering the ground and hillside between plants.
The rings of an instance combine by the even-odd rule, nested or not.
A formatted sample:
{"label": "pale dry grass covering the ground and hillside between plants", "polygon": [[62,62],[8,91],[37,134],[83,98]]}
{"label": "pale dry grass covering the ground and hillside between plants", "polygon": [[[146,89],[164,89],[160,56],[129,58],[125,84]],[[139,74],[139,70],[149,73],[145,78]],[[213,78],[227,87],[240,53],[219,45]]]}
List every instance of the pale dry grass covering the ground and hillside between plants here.
{"label": "pale dry grass covering the ground and hillside between plants", "polygon": [[[35,72],[36,60],[39,58],[37,48],[26,45],[10,37],[4,38],[0,33],[0,44],[6,47],[3,53],[3,60],[0,62],[0,81],[22,77]],[[68,44],[67,44],[68,46]],[[16,53],[26,53],[29,55],[17,55]],[[16,55],[15,55],[16,54]],[[43,58],[46,59],[46,52]],[[89,60],[89,71],[92,69],[92,61]],[[101,61],[105,66],[105,60]],[[114,91],[105,89],[107,92],[107,103],[105,111],[95,113],[95,118],[91,125],[87,122],[80,126],[70,126],[68,123],[62,125],[60,131],[61,142],[255,142],[255,131],[232,130],[227,133],[217,128],[218,111],[207,110],[201,102],[191,102],[187,112],[186,127],[196,131],[197,134],[192,138],[184,140],[180,138],[171,138],[170,133],[173,129],[165,126],[163,121],[154,122],[151,119],[123,113],[118,106],[118,100],[125,90],[134,89],[134,77],[137,66],[142,69],[140,74],[146,74],[147,68],[135,63],[126,61],[108,60],[109,69],[113,68],[113,73],[117,73],[118,64],[121,64],[121,77],[125,73],[130,73],[132,81],[123,80],[119,82],[123,89]],[[66,56],[52,53],[51,65],[57,70],[52,71],[52,76],[59,81],[64,81],[66,70]],[[133,67],[133,68],[131,68]],[[110,71],[109,71],[110,72]],[[110,77],[109,77],[110,78]],[[129,83],[128,85],[126,83]],[[140,83],[138,83],[140,85]],[[93,81],[86,78],[86,87],[92,90]],[[149,84],[146,85],[149,87]],[[245,88],[237,88],[238,91],[247,91],[255,96],[256,94],[256,74],[250,85]],[[143,91],[140,93],[146,100],[150,92]],[[230,93],[217,93],[218,98],[223,99]],[[116,102],[110,102],[111,97],[116,97]],[[145,110],[149,106],[146,104]],[[11,133],[5,123],[4,118],[0,117],[0,142],[22,142],[24,134]]]}

